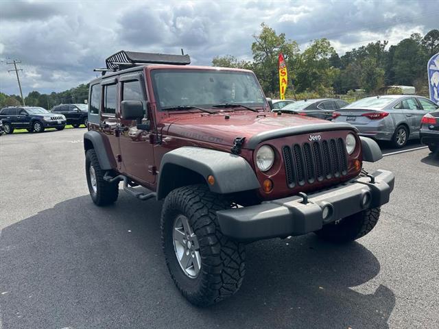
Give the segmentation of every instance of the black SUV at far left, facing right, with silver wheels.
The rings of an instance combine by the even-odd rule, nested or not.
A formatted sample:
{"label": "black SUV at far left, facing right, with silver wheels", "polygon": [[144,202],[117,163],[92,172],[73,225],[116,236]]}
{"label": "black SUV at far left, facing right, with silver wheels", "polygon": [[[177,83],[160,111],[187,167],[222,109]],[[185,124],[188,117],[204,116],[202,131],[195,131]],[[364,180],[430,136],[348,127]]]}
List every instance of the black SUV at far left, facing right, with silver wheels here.
{"label": "black SUV at far left, facing right, with silver wheels", "polygon": [[45,108],[36,106],[10,106],[0,110],[5,134],[12,134],[15,129],[27,129],[29,132],[44,132],[46,128],[63,130],[66,118],[62,114],[54,114]]}

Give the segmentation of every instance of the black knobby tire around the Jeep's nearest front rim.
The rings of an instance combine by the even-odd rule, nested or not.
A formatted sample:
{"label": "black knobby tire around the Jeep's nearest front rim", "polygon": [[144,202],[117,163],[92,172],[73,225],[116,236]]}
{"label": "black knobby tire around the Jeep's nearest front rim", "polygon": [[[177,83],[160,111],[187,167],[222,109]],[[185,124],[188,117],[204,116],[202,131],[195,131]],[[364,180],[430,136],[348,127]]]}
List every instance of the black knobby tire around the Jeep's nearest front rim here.
{"label": "black knobby tire around the Jeep's nearest front rim", "polygon": [[[224,236],[217,222],[217,210],[230,208],[220,195],[204,185],[176,188],[162,208],[162,245],[169,273],[178,290],[195,306],[209,306],[236,293],[245,274],[242,243]],[[196,278],[182,270],[174,250],[172,230],[178,215],[185,215],[200,245],[201,267]]]}

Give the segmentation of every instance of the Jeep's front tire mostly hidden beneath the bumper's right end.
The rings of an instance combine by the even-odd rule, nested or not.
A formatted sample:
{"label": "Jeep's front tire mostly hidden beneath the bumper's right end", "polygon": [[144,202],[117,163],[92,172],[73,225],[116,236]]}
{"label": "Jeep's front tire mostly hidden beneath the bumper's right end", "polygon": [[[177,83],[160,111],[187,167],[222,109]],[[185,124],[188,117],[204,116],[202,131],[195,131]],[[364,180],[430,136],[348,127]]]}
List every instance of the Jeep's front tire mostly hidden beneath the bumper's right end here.
{"label": "Jeep's front tire mostly hidden beneath the bumper's right end", "polygon": [[324,225],[315,233],[323,240],[333,243],[348,243],[368,234],[379,219],[380,208],[372,208],[345,217],[340,223]]}

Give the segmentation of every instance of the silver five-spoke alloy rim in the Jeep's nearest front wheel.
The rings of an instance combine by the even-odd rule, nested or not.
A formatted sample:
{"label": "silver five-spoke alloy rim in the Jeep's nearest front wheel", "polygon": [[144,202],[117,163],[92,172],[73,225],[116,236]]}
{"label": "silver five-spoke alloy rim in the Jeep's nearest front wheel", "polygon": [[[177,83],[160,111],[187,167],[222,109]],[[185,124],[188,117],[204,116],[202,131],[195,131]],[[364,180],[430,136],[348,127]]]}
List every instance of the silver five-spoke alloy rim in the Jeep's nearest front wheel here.
{"label": "silver five-spoke alloy rim in the Jeep's nearest front wheel", "polygon": [[185,215],[178,215],[172,231],[174,251],[183,273],[196,278],[201,269],[200,245]]}

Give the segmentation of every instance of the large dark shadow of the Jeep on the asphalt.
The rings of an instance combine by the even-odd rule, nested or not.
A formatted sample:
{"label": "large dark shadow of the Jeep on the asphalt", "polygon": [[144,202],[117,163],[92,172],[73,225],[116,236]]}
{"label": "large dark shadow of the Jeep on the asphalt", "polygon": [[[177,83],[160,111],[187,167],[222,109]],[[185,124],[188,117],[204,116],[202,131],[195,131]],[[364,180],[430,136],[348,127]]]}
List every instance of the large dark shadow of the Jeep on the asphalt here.
{"label": "large dark shadow of the Jeep on the asphalt", "polygon": [[248,245],[241,291],[195,308],[171,281],[161,205],[121,195],[97,208],[69,199],[1,232],[1,312],[9,328],[388,328],[395,296],[359,243],[313,234]]}

